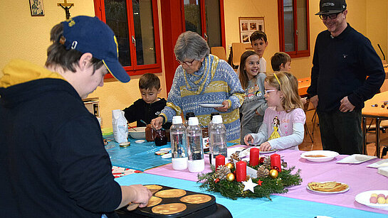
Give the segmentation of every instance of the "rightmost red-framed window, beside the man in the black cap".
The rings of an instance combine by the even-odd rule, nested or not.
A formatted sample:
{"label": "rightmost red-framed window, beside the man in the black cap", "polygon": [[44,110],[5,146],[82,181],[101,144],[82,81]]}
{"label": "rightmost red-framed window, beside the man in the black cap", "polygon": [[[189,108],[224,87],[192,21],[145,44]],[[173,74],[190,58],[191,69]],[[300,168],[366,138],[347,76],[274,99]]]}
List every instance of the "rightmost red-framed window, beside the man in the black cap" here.
{"label": "rightmost red-framed window, beside the man in the black cap", "polygon": [[291,58],[310,56],[308,0],[278,0],[280,51]]}

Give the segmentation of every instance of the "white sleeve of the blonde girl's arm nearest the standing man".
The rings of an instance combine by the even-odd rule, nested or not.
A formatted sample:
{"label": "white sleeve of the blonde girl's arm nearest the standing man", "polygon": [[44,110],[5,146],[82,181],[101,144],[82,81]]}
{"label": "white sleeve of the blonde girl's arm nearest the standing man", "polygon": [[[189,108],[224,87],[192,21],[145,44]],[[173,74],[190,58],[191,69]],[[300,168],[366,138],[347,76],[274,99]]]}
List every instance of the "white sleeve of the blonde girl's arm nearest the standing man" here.
{"label": "white sleeve of the blonde girl's arm nearest the standing man", "polygon": [[[261,128],[260,128],[261,129]],[[293,133],[289,136],[283,136],[280,138],[274,138],[268,143],[274,149],[285,149],[293,146],[298,146],[303,142],[305,136],[305,126],[302,123],[293,124]]]}

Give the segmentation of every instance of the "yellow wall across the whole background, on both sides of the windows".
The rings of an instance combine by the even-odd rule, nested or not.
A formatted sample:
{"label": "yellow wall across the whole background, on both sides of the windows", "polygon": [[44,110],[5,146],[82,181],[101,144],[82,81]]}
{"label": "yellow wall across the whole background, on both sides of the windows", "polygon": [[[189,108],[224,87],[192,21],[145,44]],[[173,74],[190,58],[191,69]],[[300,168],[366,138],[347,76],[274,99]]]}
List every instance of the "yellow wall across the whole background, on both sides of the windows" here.
{"label": "yellow wall across the whole background, on both sides of the windows", "polygon": [[[51,27],[65,19],[65,12],[56,4],[59,1],[45,0],[45,16],[31,17],[28,1],[3,1],[0,7],[0,69],[9,60],[22,58],[38,65],[44,65],[46,48],[50,45],[49,33]],[[71,16],[94,16],[93,0],[71,0],[75,6],[70,9]],[[370,2],[370,1],[369,1]],[[367,36],[377,53],[377,43],[382,46],[384,53],[387,50],[388,1],[374,0],[374,4],[367,4],[367,0],[348,0],[349,13],[347,21],[357,31]],[[158,1],[161,4],[161,0]],[[277,1],[272,0],[224,0],[226,45],[239,42],[238,17],[263,16],[265,30],[268,35],[268,48],[264,53],[267,60],[267,71],[271,71],[270,59],[273,53],[279,50],[278,11]],[[160,7],[159,7],[160,9]],[[318,16],[319,0],[310,0],[310,50],[311,55],[306,58],[293,58],[292,71],[297,77],[310,76],[311,62],[315,38],[325,26]],[[160,14],[160,11],[159,11]],[[161,20],[159,16],[159,26]],[[162,28],[161,28],[162,30]],[[162,34],[160,34],[162,39]],[[228,50],[229,53],[229,50]],[[163,55],[162,55],[163,57]],[[0,72],[1,73],[1,72]],[[1,75],[0,75],[1,76]],[[159,97],[167,98],[164,72],[157,73],[162,82],[162,92]],[[124,109],[140,98],[138,81],[140,76],[132,76],[127,84],[120,82],[105,82],[104,87],[90,94],[89,97],[100,98],[100,114],[103,127],[111,126],[112,109]]]}

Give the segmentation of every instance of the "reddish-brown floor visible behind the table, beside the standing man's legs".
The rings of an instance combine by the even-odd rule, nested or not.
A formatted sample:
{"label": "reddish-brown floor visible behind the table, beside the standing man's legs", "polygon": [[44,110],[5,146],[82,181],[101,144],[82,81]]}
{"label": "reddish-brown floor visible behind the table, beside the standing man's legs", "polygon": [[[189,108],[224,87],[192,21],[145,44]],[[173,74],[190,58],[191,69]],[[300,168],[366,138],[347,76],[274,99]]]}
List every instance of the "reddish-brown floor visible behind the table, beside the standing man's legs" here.
{"label": "reddish-brown floor visible behind the table, beside the standing man's legs", "polygon": [[[308,129],[310,131],[313,130],[313,123],[311,121],[311,118],[313,117],[313,114],[314,114],[314,111],[308,111],[307,114],[306,114],[306,122],[308,124]],[[319,126],[317,124],[315,124],[315,128],[314,128],[314,132],[313,132],[313,143],[311,142],[310,140],[310,137],[308,136],[307,133],[305,133],[305,139],[303,140],[303,143],[301,143],[299,145],[299,150],[302,150],[302,151],[312,151],[312,150],[322,150],[322,143],[320,141],[320,131],[319,131]],[[367,141],[368,142],[372,142],[375,140],[375,135],[374,134],[367,134]],[[381,133],[380,134],[380,137],[382,139],[386,138],[388,139],[388,133]],[[381,148],[381,151],[382,151],[382,148],[384,148],[384,146],[388,146],[388,140],[384,140],[385,143],[381,143],[380,145],[380,148]],[[370,156],[374,156],[375,154],[375,151],[376,151],[376,146],[374,143],[368,143],[367,144],[367,153],[368,155]],[[380,151],[380,154],[381,154],[381,151]],[[387,156],[384,156],[383,158],[388,158],[388,155]]]}

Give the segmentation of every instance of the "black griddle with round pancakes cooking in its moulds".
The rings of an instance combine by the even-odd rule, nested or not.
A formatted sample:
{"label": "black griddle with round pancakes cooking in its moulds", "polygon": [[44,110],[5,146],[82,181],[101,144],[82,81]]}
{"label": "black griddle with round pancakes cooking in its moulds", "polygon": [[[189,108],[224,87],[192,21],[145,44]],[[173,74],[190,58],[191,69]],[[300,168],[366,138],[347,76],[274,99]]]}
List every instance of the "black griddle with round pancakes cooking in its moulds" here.
{"label": "black griddle with round pancakes cooking in its moulds", "polygon": [[145,185],[151,192],[147,207],[128,210],[125,207],[116,210],[117,214],[130,217],[184,217],[196,214],[205,217],[216,211],[216,198],[199,192],[177,189],[164,185]]}

